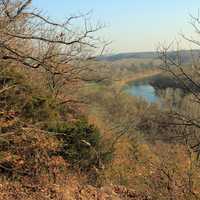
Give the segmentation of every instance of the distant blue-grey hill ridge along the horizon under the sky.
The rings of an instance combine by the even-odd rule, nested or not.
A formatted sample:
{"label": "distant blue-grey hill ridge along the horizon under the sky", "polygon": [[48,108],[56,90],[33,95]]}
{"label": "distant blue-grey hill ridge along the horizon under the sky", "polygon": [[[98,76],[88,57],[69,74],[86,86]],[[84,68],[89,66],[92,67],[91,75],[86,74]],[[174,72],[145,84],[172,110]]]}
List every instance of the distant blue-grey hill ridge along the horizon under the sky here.
{"label": "distant blue-grey hill ridge along the horizon under the sky", "polygon": [[[193,58],[200,57],[200,50],[181,50],[179,52],[182,62],[183,63],[190,63]],[[175,59],[177,57],[176,51],[171,51],[168,53],[168,55]],[[118,61],[123,59],[158,59],[159,54],[158,52],[130,52],[130,53],[119,53],[119,54],[113,54],[113,55],[103,55],[97,58],[97,60],[100,61]]]}

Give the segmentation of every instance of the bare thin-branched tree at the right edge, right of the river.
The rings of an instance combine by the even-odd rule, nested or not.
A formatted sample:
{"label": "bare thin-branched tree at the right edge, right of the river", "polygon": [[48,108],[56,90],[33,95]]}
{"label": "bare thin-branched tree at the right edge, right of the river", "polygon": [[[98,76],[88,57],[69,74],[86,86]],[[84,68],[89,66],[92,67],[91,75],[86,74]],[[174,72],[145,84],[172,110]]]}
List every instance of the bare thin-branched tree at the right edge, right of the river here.
{"label": "bare thin-branched tree at the right edge, right of the river", "polygon": [[[191,16],[191,24],[195,32],[200,34],[200,18]],[[200,42],[192,37],[186,37],[181,34],[184,41],[191,45],[196,45],[197,49],[200,47]],[[173,109],[169,115],[173,122],[169,122],[169,126],[183,127],[185,131],[179,135],[183,141],[186,141],[188,148],[193,149],[200,155],[200,60],[198,50],[190,51],[191,64],[184,64],[184,55],[182,51],[170,51],[172,44],[167,47],[161,46],[159,48],[159,56],[162,60],[161,68],[169,73],[175,81],[178,81],[182,88],[188,95],[188,108],[182,107],[182,110]],[[178,48],[177,48],[178,49]],[[190,129],[188,131],[188,129]]]}

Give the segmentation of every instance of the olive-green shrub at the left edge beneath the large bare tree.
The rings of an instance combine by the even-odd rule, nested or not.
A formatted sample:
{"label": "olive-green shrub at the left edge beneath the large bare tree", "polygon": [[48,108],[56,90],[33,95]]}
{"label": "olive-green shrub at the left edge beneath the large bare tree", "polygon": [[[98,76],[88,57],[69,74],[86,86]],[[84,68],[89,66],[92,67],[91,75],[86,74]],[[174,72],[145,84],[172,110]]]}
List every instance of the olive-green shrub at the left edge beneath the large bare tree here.
{"label": "olive-green shrub at the left edge beneath the large bare tree", "polygon": [[9,68],[0,71],[0,88],[13,86],[0,95],[0,107],[15,111],[25,122],[58,120],[60,111],[52,94],[42,84],[28,81],[24,73]]}

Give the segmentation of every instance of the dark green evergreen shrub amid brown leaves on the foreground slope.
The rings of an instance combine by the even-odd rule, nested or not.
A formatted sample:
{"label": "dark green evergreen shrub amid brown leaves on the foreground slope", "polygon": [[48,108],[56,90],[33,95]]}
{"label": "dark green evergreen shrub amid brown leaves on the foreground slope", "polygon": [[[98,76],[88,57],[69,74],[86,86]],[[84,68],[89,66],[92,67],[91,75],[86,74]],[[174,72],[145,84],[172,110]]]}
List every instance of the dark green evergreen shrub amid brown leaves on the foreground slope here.
{"label": "dark green evergreen shrub amid brown leaves on the foreground slope", "polygon": [[112,152],[103,152],[99,130],[85,119],[73,124],[54,123],[48,131],[55,133],[61,141],[59,154],[81,170],[89,170],[93,166],[100,168],[112,157]]}

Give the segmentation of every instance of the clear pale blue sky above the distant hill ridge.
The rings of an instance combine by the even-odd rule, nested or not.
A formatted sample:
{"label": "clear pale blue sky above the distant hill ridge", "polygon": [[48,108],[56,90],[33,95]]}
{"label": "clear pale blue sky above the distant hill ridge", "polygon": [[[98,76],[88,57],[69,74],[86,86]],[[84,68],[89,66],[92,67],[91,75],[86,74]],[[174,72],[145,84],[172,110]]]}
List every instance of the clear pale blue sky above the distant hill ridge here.
{"label": "clear pale blue sky above the distant hill ridge", "polygon": [[[200,0],[33,0],[35,7],[55,20],[92,11],[94,23],[106,27],[99,33],[112,41],[110,51],[154,51],[159,43],[179,40],[194,30],[189,15],[198,15]],[[191,48],[182,42],[182,48]]]}

